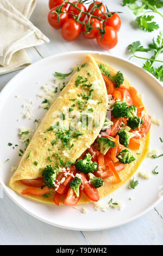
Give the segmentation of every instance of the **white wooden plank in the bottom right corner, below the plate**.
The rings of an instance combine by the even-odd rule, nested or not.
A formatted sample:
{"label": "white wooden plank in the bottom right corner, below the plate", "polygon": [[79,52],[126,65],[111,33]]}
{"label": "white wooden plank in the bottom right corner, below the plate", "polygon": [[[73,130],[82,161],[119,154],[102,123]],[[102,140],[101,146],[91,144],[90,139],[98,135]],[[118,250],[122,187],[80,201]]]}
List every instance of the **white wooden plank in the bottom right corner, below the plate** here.
{"label": "white wooden plank in the bottom right corner, below the plate", "polygon": [[[160,203],[157,209],[162,205]],[[91,245],[163,245],[163,219],[153,209],[122,227],[83,234]]]}

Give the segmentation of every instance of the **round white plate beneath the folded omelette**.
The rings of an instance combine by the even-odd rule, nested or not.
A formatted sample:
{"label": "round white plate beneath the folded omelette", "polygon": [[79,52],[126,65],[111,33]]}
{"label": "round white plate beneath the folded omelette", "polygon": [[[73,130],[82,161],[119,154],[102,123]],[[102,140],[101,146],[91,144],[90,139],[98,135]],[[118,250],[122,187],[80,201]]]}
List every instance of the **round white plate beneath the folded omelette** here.
{"label": "round white plate beneath the folded omelette", "polygon": [[[34,101],[33,106],[35,107],[33,110],[35,118],[42,118],[46,110],[38,108],[42,99],[36,99],[36,94],[41,92],[40,87],[46,83],[53,84],[53,74],[55,71],[69,72],[70,68],[82,61],[87,53],[91,53],[93,57],[101,59],[101,61],[110,64],[117,70],[121,70],[139,93],[143,94],[143,102],[147,107],[148,113],[155,114],[157,118],[162,119],[162,87],[153,76],[149,75],[142,68],[124,59],[95,51],[66,52],[42,59],[18,73],[10,80],[0,94],[0,160],[10,159],[8,162],[3,163],[0,169],[0,181],[5,192],[18,206],[41,221],[73,230],[104,230],[133,221],[151,210],[152,207],[161,201],[163,194],[161,157],[157,159],[146,158],[139,168],[139,170],[151,172],[152,178],[150,180],[140,178],[137,171],[134,177],[139,179],[139,186],[131,190],[128,188],[127,183],[110,197],[105,198],[106,201],[109,201],[111,198],[113,201],[123,201],[124,208],[122,211],[112,209],[111,207],[107,212],[95,211],[91,203],[79,206],[79,208],[86,207],[89,210],[89,213],[83,214],[67,206],[58,207],[37,203],[37,201],[22,197],[8,187],[9,179],[12,175],[10,168],[11,166],[17,166],[20,162],[17,151],[12,150],[12,147],[8,146],[8,142],[17,143],[18,127],[34,126],[34,120],[27,120],[20,115],[24,100],[26,98],[32,99]],[[20,97],[16,98],[16,95]],[[21,118],[20,122],[17,122],[18,118]],[[159,137],[162,136],[161,130],[162,127],[152,125],[150,145],[151,148],[160,150],[160,153],[162,153],[162,145],[159,140]],[[152,170],[156,165],[159,166],[158,175],[152,174]],[[134,198],[134,200],[129,200],[130,197]]]}

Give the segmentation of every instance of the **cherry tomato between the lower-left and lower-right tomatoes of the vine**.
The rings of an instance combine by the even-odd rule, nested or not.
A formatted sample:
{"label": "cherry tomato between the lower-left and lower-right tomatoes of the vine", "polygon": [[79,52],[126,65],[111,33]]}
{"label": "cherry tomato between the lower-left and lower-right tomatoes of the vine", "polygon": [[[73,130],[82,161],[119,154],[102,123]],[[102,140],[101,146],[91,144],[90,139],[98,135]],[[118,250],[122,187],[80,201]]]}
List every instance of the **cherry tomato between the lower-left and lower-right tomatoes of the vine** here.
{"label": "cherry tomato between the lower-left and lower-right tomatoes of the vine", "polygon": [[[86,20],[85,23],[87,24],[89,20]],[[88,38],[88,39],[94,39],[96,38],[96,35],[98,33],[98,29],[97,28],[101,28],[101,22],[95,18],[91,18],[90,19],[90,24],[93,27],[93,29],[90,31],[90,33],[86,34],[83,33],[84,37]],[[83,32],[88,32],[85,24],[83,26]]]}

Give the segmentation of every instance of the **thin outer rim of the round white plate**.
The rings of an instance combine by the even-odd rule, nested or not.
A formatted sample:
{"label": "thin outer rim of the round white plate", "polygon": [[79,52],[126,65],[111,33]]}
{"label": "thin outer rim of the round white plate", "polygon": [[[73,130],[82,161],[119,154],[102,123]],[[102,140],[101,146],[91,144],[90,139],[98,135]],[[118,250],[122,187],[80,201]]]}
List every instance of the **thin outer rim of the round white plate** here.
{"label": "thin outer rim of the round white plate", "polygon": [[[29,65],[28,67],[22,69],[18,74],[16,74],[8,83],[7,85],[5,85],[2,89],[2,91],[0,92],[0,108],[1,108],[1,105],[4,103],[4,100],[1,101],[1,99],[3,99],[3,96],[5,95],[5,92],[8,91],[8,88],[10,87],[10,84],[12,84],[12,81],[14,79],[16,79],[18,76],[21,76],[21,74],[24,72],[24,70],[27,70],[27,69],[30,69],[31,67],[37,65],[38,63],[40,62],[43,62],[43,61],[48,61],[48,59],[52,59],[52,58],[55,58],[55,57],[62,57],[62,56],[66,56],[66,55],[74,55],[74,54],[78,54],[78,53],[83,53],[83,54],[98,54],[99,56],[100,55],[104,55],[104,56],[109,56],[109,57],[112,57],[112,58],[115,58],[115,59],[118,59],[120,61],[124,61],[124,62],[127,62],[129,64],[131,64],[132,66],[135,66],[136,68],[140,69],[142,72],[145,72],[149,77],[151,77],[155,82],[156,84],[161,87],[161,90],[163,89],[163,86],[161,85],[161,82],[158,81],[155,76],[153,76],[151,73],[148,73],[147,70],[143,69],[142,67],[140,67],[139,65],[137,64],[134,64],[133,62],[130,62],[128,59],[126,58],[123,58],[123,57],[117,57],[115,55],[111,55],[110,53],[108,52],[101,52],[101,51],[70,51],[70,52],[62,52],[62,53],[58,53],[58,54],[55,54],[55,55],[52,55],[52,56],[49,56],[49,57],[46,57],[46,58],[42,58],[40,59],[39,61],[36,61],[34,62],[33,64]],[[37,215],[34,215],[32,212],[28,211],[24,206],[21,205],[21,203],[17,202],[17,200],[12,197],[12,195],[10,194],[9,190],[8,190],[8,187],[4,184],[4,182],[1,180],[0,178],[0,184],[1,186],[3,187],[3,190],[4,192],[8,195],[8,197],[14,201],[14,203],[19,206],[22,210],[24,210],[25,212],[27,212],[29,215],[39,219],[40,221],[42,222],[45,222],[47,224],[50,224],[50,225],[53,225],[55,227],[59,227],[59,228],[64,228],[64,229],[68,229],[68,230],[77,230],[77,231],[99,231],[99,230],[107,230],[107,229],[112,229],[112,228],[116,228],[116,227],[121,227],[122,225],[124,224],[127,224],[127,223],[130,223],[134,220],[136,220],[137,218],[140,218],[141,216],[145,215],[147,212],[149,212],[150,210],[152,210],[157,204],[159,204],[162,200],[163,200],[163,195],[155,201],[155,203],[153,203],[152,205],[150,205],[149,207],[147,207],[145,210],[143,210],[142,212],[140,212],[139,214],[127,219],[127,220],[124,220],[123,222],[121,223],[118,223],[118,224],[115,224],[115,225],[111,225],[110,227],[104,227],[104,228],[89,228],[89,229],[83,229],[82,227],[81,228],[72,228],[70,226],[66,226],[65,225],[59,225],[59,224],[56,224],[56,223],[52,223],[50,221],[46,221],[46,219],[44,218],[41,218]]]}

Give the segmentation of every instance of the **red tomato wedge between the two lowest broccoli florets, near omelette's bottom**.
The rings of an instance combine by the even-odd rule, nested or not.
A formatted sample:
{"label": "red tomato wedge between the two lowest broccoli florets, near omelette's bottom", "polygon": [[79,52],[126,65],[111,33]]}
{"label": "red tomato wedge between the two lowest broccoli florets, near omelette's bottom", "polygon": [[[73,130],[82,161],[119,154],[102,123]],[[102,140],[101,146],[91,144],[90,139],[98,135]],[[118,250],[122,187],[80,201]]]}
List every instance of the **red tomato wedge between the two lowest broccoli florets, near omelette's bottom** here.
{"label": "red tomato wedge between the two lowest broccoli florets, near omelette's bottom", "polygon": [[88,183],[87,176],[80,172],[82,175],[82,184],[84,186],[84,194],[92,201],[97,202],[99,200],[99,194],[97,188],[93,187],[92,184]]}

